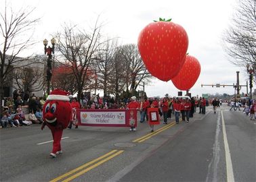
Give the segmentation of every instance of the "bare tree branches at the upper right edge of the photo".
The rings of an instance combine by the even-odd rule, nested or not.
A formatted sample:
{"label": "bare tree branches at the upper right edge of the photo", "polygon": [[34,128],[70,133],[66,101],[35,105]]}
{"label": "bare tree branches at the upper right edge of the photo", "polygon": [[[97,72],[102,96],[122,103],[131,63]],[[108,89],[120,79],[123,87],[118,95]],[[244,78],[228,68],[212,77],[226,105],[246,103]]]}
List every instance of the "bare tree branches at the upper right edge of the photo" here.
{"label": "bare tree branches at the upper right edge of the photo", "polygon": [[224,33],[224,48],[239,67],[250,65],[256,74],[256,0],[240,0],[232,25]]}

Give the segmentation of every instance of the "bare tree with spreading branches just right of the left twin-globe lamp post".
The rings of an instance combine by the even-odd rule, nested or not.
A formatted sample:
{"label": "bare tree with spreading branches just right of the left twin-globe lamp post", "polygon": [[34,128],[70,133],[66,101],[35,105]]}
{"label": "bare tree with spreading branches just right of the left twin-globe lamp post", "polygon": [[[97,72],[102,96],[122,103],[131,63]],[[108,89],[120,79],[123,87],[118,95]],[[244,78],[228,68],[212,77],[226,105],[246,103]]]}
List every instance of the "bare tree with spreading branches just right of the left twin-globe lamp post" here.
{"label": "bare tree with spreading branches just right of the left twin-globe lamp post", "polygon": [[69,64],[66,67],[69,67],[74,74],[79,101],[89,81],[88,73],[91,70],[91,62],[95,59],[98,47],[102,44],[100,28],[97,20],[91,32],[81,30],[77,26],[64,26],[63,31],[56,35],[59,40],[57,50],[60,51],[64,60],[68,61]]}

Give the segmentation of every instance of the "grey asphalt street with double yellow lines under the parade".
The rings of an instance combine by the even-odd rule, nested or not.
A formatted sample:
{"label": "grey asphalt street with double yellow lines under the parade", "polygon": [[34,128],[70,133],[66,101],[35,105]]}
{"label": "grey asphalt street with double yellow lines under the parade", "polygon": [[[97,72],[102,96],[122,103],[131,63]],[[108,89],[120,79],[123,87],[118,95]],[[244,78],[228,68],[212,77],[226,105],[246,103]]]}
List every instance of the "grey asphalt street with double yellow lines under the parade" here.
{"label": "grey asphalt street with double yellow lines under the parade", "polygon": [[[138,115],[138,117],[140,114]],[[40,125],[0,129],[0,181],[256,181],[256,123],[223,106],[190,123],[66,129],[51,158]]]}

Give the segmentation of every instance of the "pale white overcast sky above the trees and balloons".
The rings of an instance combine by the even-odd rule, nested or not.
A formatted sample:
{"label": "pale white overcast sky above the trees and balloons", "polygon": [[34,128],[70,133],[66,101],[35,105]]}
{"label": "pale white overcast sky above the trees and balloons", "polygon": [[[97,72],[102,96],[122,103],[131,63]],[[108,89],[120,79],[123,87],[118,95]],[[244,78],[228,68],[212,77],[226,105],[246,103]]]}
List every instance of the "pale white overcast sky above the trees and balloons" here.
{"label": "pale white overcast sky above the trees and balloons", "polygon": [[[172,22],[184,27],[188,34],[188,53],[198,59],[201,65],[200,76],[191,88],[192,96],[202,94],[234,94],[234,88],[201,87],[201,84],[236,84],[236,71],[240,71],[240,84],[246,84],[249,76],[244,69],[235,67],[228,61],[223,51],[223,32],[230,25],[236,9],[236,0],[7,0],[14,9],[36,7],[33,18],[41,18],[35,30],[33,47],[37,54],[43,54],[43,39],[60,30],[65,22],[79,24],[87,28],[100,16],[104,23],[102,33],[120,37],[120,44],[137,44],[140,31],[153,20],[172,18]],[[0,7],[3,7],[1,1]],[[1,8],[2,9],[2,8]],[[140,88],[142,89],[142,88]],[[177,95],[172,82],[162,82],[157,78],[145,87],[148,96]],[[247,92],[242,87],[242,92]],[[185,94],[185,92],[184,92]]]}

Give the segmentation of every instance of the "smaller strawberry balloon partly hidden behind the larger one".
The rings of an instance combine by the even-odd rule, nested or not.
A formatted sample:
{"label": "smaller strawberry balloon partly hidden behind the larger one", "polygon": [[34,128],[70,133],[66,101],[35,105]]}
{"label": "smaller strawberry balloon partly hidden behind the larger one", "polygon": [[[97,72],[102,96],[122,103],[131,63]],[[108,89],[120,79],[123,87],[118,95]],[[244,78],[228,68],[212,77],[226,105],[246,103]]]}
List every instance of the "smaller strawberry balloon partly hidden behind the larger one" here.
{"label": "smaller strawberry balloon partly hidden behind the larger one", "polygon": [[179,73],[171,81],[179,90],[188,90],[194,86],[200,75],[200,63],[195,57],[186,56],[186,61]]}

